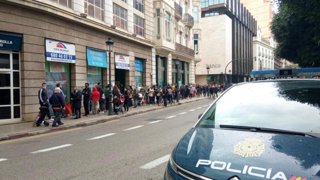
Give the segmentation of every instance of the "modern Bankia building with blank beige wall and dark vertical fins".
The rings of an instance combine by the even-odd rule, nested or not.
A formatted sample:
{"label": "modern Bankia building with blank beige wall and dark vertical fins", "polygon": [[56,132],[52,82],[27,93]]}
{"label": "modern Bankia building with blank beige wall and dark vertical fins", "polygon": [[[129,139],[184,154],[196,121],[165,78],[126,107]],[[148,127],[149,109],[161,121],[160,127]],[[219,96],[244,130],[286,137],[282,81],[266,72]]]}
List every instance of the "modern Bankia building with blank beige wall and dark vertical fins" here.
{"label": "modern Bankia building with blank beige wall and dark vertical fins", "polygon": [[250,12],[239,0],[201,0],[200,25],[202,48],[196,83],[223,83],[224,76],[228,82],[248,81],[256,35],[256,21]]}

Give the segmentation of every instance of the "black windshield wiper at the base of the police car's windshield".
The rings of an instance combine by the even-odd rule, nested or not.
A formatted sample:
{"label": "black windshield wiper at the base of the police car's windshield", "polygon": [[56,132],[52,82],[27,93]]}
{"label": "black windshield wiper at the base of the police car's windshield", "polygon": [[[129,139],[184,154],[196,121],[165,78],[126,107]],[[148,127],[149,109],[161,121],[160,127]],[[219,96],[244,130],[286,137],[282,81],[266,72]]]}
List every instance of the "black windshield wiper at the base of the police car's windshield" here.
{"label": "black windshield wiper at the base of the police car's windshield", "polygon": [[294,135],[302,135],[302,136],[311,136],[319,138],[320,136],[316,136],[310,133],[305,132],[297,132],[297,131],[291,131],[291,130],[282,130],[282,129],[273,129],[273,128],[264,128],[264,127],[253,127],[253,126],[242,126],[242,125],[224,125],[220,124],[220,128],[233,128],[233,129],[247,129],[250,131],[265,131],[265,132],[279,132],[279,133],[286,133],[286,134],[294,134]]}

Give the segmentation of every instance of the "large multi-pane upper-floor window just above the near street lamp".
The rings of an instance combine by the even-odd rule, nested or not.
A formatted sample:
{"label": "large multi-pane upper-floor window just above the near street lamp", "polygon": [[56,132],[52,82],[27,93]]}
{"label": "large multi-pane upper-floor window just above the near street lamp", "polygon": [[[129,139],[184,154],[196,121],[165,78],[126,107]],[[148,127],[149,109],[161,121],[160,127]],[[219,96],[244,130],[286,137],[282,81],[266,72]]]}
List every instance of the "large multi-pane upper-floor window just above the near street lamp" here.
{"label": "large multi-pane upper-floor window just above the near street lamp", "polygon": [[128,29],[127,10],[117,4],[113,4],[113,25]]}

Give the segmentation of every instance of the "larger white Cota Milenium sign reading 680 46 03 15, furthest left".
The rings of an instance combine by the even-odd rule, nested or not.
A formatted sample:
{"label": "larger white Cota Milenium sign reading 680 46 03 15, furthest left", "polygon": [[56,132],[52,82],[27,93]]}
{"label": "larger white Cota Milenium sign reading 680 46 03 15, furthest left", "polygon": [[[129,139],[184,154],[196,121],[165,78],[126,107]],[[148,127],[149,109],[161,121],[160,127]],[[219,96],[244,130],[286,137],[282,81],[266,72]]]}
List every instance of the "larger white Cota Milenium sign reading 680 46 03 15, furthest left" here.
{"label": "larger white Cota Milenium sign reading 680 46 03 15, furthest left", "polygon": [[75,45],[45,39],[45,56],[48,61],[75,63]]}

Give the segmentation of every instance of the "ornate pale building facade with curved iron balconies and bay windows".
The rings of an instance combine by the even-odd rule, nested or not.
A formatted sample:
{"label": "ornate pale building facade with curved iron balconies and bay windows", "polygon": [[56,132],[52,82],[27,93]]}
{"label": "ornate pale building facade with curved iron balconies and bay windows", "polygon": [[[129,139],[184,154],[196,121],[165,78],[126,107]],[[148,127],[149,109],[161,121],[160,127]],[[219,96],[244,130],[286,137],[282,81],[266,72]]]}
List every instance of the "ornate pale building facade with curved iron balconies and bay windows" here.
{"label": "ornate pale building facade with curved iron balconies and bay windows", "polygon": [[152,84],[194,83],[191,0],[154,0]]}

